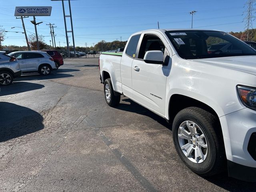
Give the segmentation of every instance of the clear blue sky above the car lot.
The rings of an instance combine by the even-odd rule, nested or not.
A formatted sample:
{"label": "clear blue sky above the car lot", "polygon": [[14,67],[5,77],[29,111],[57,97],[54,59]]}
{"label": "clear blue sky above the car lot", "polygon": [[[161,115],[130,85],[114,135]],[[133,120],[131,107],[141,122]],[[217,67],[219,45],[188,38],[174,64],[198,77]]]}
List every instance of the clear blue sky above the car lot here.
{"label": "clear blue sky above the car lot", "polygon": [[[225,32],[244,30],[242,15],[246,10],[246,0],[72,0],[74,38],[76,46],[93,46],[101,40],[126,41],[129,36],[141,30],[191,28],[190,12],[196,10],[193,28],[216,29]],[[16,6],[52,6],[51,16],[36,16],[36,22],[43,22],[37,28],[50,44],[49,23],[55,24],[56,46],[65,46],[65,28],[61,1],[51,0],[0,0],[0,26],[6,31],[3,45],[26,46],[22,22],[14,16]],[[69,15],[68,1],[65,12]],[[34,33],[33,17],[25,18],[25,28]],[[256,21],[253,26],[256,27]],[[68,30],[71,30],[70,18],[67,18]],[[12,27],[15,27],[11,29]],[[72,34],[68,36],[73,45]]]}

